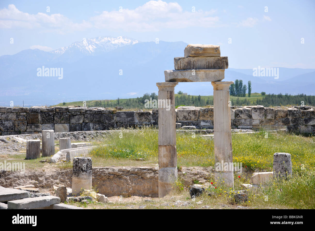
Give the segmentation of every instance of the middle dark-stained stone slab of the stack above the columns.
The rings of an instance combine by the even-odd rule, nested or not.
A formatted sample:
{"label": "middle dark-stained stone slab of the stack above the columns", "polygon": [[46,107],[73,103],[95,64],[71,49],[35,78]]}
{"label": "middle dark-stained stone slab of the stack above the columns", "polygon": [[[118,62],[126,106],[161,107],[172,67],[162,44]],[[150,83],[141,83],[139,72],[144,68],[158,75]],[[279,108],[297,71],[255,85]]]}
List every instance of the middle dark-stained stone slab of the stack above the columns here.
{"label": "middle dark-stained stone slab of the stack above the columns", "polygon": [[224,57],[175,57],[175,70],[189,69],[227,69],[227,56]]}

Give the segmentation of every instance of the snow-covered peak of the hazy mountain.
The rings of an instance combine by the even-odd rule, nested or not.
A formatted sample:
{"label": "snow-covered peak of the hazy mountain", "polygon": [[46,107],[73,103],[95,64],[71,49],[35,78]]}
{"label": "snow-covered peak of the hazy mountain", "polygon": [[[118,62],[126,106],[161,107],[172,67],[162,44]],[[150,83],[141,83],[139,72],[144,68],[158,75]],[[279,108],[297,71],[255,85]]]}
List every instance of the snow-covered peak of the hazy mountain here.
{"label": "snow-covered peak of the hazy mountain", "polygon": [[139,43],[138,40],[128,38],[125,36],[113,37],[98,37],[98,38],[83,38],[80,42],[72,43],[68,47],[61,47],[50,51],[56,55],[62,55],[64,53],[77,53],[80,52],[83,55],[95,55],[101,52],[109,52],[118,47],[126,45],[134,45]]}

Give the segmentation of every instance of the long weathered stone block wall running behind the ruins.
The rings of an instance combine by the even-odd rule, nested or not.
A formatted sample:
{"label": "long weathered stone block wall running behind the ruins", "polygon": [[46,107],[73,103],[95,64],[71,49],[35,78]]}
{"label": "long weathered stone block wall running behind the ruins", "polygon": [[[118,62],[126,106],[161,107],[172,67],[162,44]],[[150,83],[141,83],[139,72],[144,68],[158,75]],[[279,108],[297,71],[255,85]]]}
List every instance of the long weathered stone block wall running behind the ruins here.
{"label": "long weathered stone block wall running behind the ruins", "polygon": [[[115,128],[157,126],[158,109],[152,112],[117,111],[86,107],[0,107],[0,135],[111,130]],[[213,108],[178,107],[176,123],[198,129],[213,129]],[[300,133],[315,133],[315,110],[309,106],[231,107],[232,128],[275,130],[286,128]]]}

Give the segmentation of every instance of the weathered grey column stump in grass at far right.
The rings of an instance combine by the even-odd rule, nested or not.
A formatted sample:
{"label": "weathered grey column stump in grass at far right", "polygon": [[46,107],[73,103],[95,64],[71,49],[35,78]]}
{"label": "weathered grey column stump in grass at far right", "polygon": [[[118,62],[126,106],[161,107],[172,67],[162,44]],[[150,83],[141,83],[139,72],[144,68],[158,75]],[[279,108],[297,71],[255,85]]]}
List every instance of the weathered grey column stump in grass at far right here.
{"label": "weathered grey column stump in grass at far right", "polygon": [[292,175],[291,154],[274,153],[273,154],[273,178],[282,178]]}

